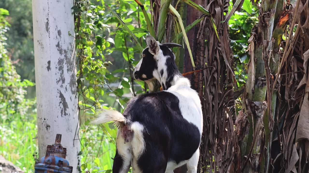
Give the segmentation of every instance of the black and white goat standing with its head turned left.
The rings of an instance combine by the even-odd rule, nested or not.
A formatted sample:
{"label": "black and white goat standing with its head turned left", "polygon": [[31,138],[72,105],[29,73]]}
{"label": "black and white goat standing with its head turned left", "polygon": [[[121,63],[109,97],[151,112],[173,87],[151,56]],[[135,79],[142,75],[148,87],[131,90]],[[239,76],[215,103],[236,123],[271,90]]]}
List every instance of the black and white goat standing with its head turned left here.
{"label": "black and white goat standing with its head turned left", "polygon": [[197,92],[190,88],[175,63],[170,47],[151,36],[143,58],[134,69],[137,80],[157,79],[165,91],[131,99],[121,114],[103,110],[92,124],[115,122],[119,126],[113,173],[171,173],[187,164],[189,173],[197,172],[202,134],[202,109]]}

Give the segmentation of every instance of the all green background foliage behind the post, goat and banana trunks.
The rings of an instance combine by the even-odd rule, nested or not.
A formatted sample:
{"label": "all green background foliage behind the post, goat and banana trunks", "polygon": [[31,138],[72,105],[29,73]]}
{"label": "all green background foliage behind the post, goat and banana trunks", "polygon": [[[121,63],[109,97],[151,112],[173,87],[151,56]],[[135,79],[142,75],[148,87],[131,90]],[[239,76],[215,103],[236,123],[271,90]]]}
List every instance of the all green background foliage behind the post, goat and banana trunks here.
{"label": "all green background foliage behind the post, goat and banana trunks", "polygon": [[[141,2],[150,17],[150,1]],[[72,7],[78,56],[80,170],[91,173],[111,171],[116,129],[112,124],[87,126],[87,119],[97,108],[123,111],[130,98],[147,91],[143,82],[131,78],[141,54],[104,3],[121,17],[142,47],[146,46],[144,38],[148,34],[143,13],[133,0],[81,0]],[[230,2],[229,10],[232,5]],[[0,154],[25,172],[34,172],[31,158],[37,151],[31,11],[31,0],[0,2]],[[244,0],[242,8],[229,20],[237,81],[236,112],[247,80],[247,41],[257,23],[257,13],[256,6]]]}

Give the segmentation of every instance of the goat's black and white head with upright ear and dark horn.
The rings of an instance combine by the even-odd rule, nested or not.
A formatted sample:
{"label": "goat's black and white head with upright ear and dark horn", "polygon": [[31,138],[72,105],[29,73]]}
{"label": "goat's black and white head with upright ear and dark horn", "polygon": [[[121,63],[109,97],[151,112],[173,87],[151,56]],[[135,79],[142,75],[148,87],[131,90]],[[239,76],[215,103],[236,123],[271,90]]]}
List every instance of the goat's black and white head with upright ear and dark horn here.
{"label": "goat's black and white head with upright ear and dark horn", "polygon": [[163,74],[167,76],[170,70],[177,70],[175,55],[170,48],[181,45],[176,43],[160,44],[150,35],[146,37],[146,43],[147,47],[142,52],[143,58],[134,68],[134,78],[146,82],[158,79],[162,84],[160,79],[163,77]]}

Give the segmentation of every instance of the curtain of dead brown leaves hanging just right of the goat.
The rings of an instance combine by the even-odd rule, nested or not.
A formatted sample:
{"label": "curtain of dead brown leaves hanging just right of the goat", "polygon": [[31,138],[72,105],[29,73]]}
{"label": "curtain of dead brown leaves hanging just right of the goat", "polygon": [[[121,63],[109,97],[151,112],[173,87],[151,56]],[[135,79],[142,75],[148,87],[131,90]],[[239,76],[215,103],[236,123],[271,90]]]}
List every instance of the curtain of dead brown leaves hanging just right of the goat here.
{"label": "curtain of dead brown leaves hanging just right of the goat", "polygon": [[[205,34],[203,64],[213,66],[204,71],[202,106],[204,134],[201,143],[201,172],[234,172],[240,165],[239,148],[234,132],[234,62],[228,37],[228,26],[222,23],[228,14],[228,0],[206,0],[201,4],[212,14],[220,41],[209,19],[200,27]],[[235,157],[234,157],[235,156]]]}

